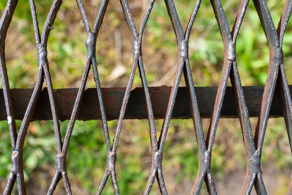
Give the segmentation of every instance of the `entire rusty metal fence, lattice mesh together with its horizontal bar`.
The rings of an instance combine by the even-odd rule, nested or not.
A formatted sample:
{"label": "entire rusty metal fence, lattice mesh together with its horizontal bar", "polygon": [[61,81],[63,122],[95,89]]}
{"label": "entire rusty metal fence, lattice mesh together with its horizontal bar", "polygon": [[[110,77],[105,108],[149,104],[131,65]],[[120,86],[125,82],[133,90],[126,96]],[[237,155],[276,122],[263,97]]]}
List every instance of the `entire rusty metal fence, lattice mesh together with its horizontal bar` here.
{"label": "entire rusty metal fence, lattice mesh together with its horizontal bar", "polygon": [[[13,149],[11,155],[12,169],[7,186],[4,191],[4,195],[12,193],[16,180],[18,183],[18,194],[26,194],[22,162],[23,145],[30,122],[37,119],[53,119],[55,127],[55,138],[57,145],[57,156],[55,158],[56,172],[52,184],[48,190],[48,195],[54,193],[56,185],[61,179],[64,182],[67,194],[71,195],[72,192],[66,170],[66,156],[75,120],[99,118],[102,120],[104,128],[104,135],[107,147],[107,167],[97,194],[99,195],[102,193],[109,176],[111,177],[114,193],[117,195],[120,194],[115,173],[115,161],[123,120],[125,118],[147,118],[149,121],[152,163],[150,175],[148,177],[148,181],[143,194],[148,195],[150,193],[151,187],[156,178],[160,187],[161,194],[166,195],[167,190],[164,184],[164,177],[162,172],[162,156],[171,117],[191,117],[193,119],[198,141],[200,165],[191,194],[198,195],[200,193],[202,183],[203,181],[205,181],[208,193],[215,195],[217,194],[217,192],[215,188],[215,183],[212,179],[210,162],[220,114],[222,114],[223,117],[239,117],[240,120],[247,159],[246,176],[240,194],[250,194],[253,186],[255,186],[256,193],[258,195],[267,194],[261,176],[262,174],[260,168],[260,159],[263,140],[267,128],[268,117],[276,117],[281,115],[284,117],[291,146],[292,99],[284,70],[282,42],[284,32],[286,30],[286,26],[292,10],[292,0],[286,0],[285,7],[283,9],[283,13],[277,29],[274,26],[274,22],[270,15],[266,1],[253,0],[270,50],[270,63],[266,85],[265,87],[256,88],[243,88],[241,86],[236,62],[237,56],[235,48],[237,35],[242,20],[244,18],[244,14],[247,9],[249,0],[241,0],[240,7],[237,13],[237,18],[232,30],[230,30],[229,28],[229,24],[224,14],[221,1],[211,0],[211,5],[214,9],[214,13],[219,25],[224,45],[224,63],[222,75],[219,81],[219,86],[214,88],[195,88],[189,64],[188,41],[193,23],[200,7],[201,0],[197,0],[195,2],[193,13],[185,31],[183,31],[173,0],[164,0],[169,18],[172,22],[172,26],[177,38],[179,53],[175,79],[173,81],[172,87],[168,88],[148,87],[142,60],[142,36],[146,27],[147,19],[153,7],[154,0],[150,0],[139,31],[137,31],[136,25],[132,18],[128,6],[128,1],[120,0],[126,20],[128,22],[128,27],[131,33],[133,43],[133,62],[129,75],[128,85],[126,89],[122,89],[120,91],[110,91],[110,89],[107,90],[101,88],[96,66],[96,38],[98,36],[98,32],[102,24],[102,20],[106,12],[109,0],[102,1],[100,11],[92,30],[82,0],[76,0],[80,14],[82,16],[84,27],[87,32],[86,48],[88,55],[78,91],[72,89],[67,91],[58,90],[57,92],[54,92],[53,90],[52,80],[50,76],[48,62],[49,60],[47,58],[47,42],[50,31],[54,29],[53,24],[56,18],[56,14],[61,6],[62,0],[54,0],[47,20],[44,24],[42,33],[40,33],[38,27],[35,2],[34,0],[29,1],[31,5],[31,13],[33,17],[33,24],[36,36],[38,63],[37,83],[34,90],[11,90],[8,82],[7,70],[5,65],[5,38],[18,0],[8,0],[7,6],[3,11],[3,16],[0,20],[0,76],[3,85],[3,91],[0,95],[3,95],[4,97],[3,99],[0,99],[0,107],[2,108],[0,110],[0,119],[7,119],[8,121],[9,132],[11,136],[11,145]],[[91,65],[97,91],[93,92],[92,90],[86,90],[85,93],[85,84]],[[139,69],[143,88],[131,92],[131,86],[137,67]],[[186,88],[179,89],[179,83],[182,74],[185,78]],[[228,78],[230,78],[231,80],[232,87],[227,87]],[[47,90],[42,91],[44,79],[47,83]],[[156,92],[156,89],[161,90],[163,94],[159,95]],[[30,98],[16,98],[16,93],[18,93],[18,95],[19,93],[22,93],[23,96],[24,94],[26,94],[26,97]],[[58,101],[62,98],[62,95],[70,93],[76,95],[73,96],[73,98],[71,99],[63,99],[68,103],[66,106],[63,105],[65,104],[64,101]],[[196,96],[196,93],[197,95],[199,94],[198,98]],[[90,94],[93,95],[91,96]],[[143,100],[138,103],[137,100],[131,101],[130,94],[131,97],[134,96]],[[150,95],[151,98],[153,98],[153,96],[156,97],[156,101],[151,102]],[[225,108],[222,107],[224,96],[226,96],[225,98],[230,99],[230,105],[236,106],[226,107],[225,105]],[[82,102],[84,98],[88,97],[91,97],[91,99],[94,99],[95,97],[95,99],[98,98],[98,102],[96,101],[97,103],[95,104],[95,106],[99,108],[95,107],[86,109],[86,103]],[[39,103],[38,100],[40,98],[45,99],[45,103]],[[108,103],[107,101],[106,103],[104,103],[105,99],[110,99],[110,103],[113,102],[114,106],[117,106],[117,108],[119,109],[111,109],[109,105],[110,103]],[[255,101],[255,99],[258,102],[261,101],[258,106],[253,105],[252,103],[253,101]],[[175,101],[176,105],[177,103],[179,103],[183,106],[176,107]],[[63,104],[56,102],[63,102]],[[13,104],[16,104],[17,106],[13,106]],[[37,104],[43,104],[42,106],[37,107],[43,108],[44,110],[46,110],[46,112],[40,112],[39,110],[37,110]],[[146,106],[146,109],[143,109],[143,106]],[[58,116],[58,109],[66,110],[65,114],[62,114],[61,117]],[[25,114],[21,114],[21,110],[26,110]],[[78,112],[80,110],[83,110],[82,114]],[[258,122],[256,126],[256,134],[255,137],[253,137],[249,117],[256,115],[258,115]],[[203,134],[201,117],[211,117],[207,135]],[[116,118],[118,118],[118,124],[116,127],[113,143],[111,143],[107,120]],[[156,135],[154,121],[155,118],[164,118],[164,123],[159,138]],[[22,120],[22,124],[18,133],[15,122],[16,119]],[[70,123],[64,140],[62,139],[60,134],[60,119],[70,119]],[[289,185],[287,194],[292,194],[292,183],[290,183]]]}

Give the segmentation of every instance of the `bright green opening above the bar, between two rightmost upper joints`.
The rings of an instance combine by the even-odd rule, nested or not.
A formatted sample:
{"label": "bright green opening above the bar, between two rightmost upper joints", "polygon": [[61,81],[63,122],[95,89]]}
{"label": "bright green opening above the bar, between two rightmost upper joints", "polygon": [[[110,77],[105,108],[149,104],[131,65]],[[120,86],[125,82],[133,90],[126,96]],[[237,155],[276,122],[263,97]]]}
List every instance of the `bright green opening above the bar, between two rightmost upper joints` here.
{"label": "bright green opening above the bar, between two rightmost upper joints", "polygon": [[[277,24],[278,20],[275,19],[274,23]],[[253,2],[249,3],[236,45],[237,66],[242,85],[265,85],[269,67],[269,47]]]}

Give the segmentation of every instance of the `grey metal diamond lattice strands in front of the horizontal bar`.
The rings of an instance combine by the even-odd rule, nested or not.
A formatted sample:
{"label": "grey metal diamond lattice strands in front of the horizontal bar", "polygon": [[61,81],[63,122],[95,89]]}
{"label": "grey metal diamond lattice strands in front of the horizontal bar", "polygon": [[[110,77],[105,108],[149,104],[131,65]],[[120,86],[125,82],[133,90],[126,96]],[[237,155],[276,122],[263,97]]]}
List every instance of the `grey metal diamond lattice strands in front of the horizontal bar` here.
{"label": "grey metal diamond lattice strands in front of the horizontal bar", "polygon": [[[47,59],[47,43],[50,31],[53,29],[53,24],[55,21],[56,14],[61,6],[62,0],[54,0],[52,8],[49,12],[47,20],[45,22],[42,33],[40,33],[37,21],[36,14],[36,6],[34,0],[30,0],[31,12],[33,17],[33,24],[36,36],[36,45],[37,45],[37,63],[38,63],[38,77],[37,84],[31,96],[30,102],[28,104],[25,116],[23,117],[21,127],[19,132],[17,133],[14,110],[12,107],[12,98],[11,98],[11,90],[9,87],[7,70],[5,65],[5,38],[7,34],[7,30],[9,24],[12,20],[13,13],[16,9],[18,0],[8,0],[7,6],[3,12],[3,16],[0,21],[0,76],[3,85],[3,94],[5,100],[5,107],[7,113],[7,121],[9,124],[9,131],[11,136],[11,145],[12,145],[12,169],[11,174],[8,179],[7,186],[4,191],[4,195],[11,194],[13,191],[13,187],[15,181],[18,183],[18,194],[25,195],[25,184],[24,184],[24,175],[23,175],[23,145],[25,141],[25,136],[27,133],[28,126],[32,120],[32,116],[35,110],[36,102],[39,98],[41,88],[46,80],[48,87],[48,95],[50,99],[51,111],[54,121],[55,127],[55,137],[56,137],[56,145],[57,145],[57,156],[56,156],[56,173],[55,177],[52,181],[52,184],[48,190],[48,195],[54,193],[56,185],[62,178],[67,194],[71,195],[71,188],[69,183],[69,178],[67,176],[66,169],[66,156],[68,151],[68,145],[70,142],[70,137],[73,132],[74,123],[78,114],[78,110],[80,109],[80,102],[82,101],[82,97],[85,91],[86,81],[89,75],[90,67],[92,65],[93,74],[95,78],[96,90],[98,94],[98,100],[101,110],[101,118],[104,128],[104,135],[107,147],[107,167],[105,170],[104,177],[100,184],[100,187],[97,191],[97,194],[100,195],[105,187],[105,184],[111,176],[111,181],[114,189],[114,193],[119,195],[119,187],[116,179],[115,173],[115,161],[116,161],[116,153],[117,146],[119,141],[119,136],[122,129],[123,120],[125,117],[126,107],[129,100],[129,95],[131,91],[131,86],[133,83],[133,78],[135,75],[136,68],[138,66],[141,82],[143,85],[143,90],[146,98],[146,106],[147,106],[147,117],[149,121],[149,129],[150,129],[150,141],[151,141],[151,153],[152,153],[152,163],[150,175],[148,177],[148,181],[146,184],[146,188],[144,190],[144,195],[148,195],[151,191],[151,187],[154,183],[155,178],[157,178],[161,194],[166,195],[167,190],[164,184],[163,172],[162,172],[162,156],[164,150],[164,143],[170,123],[170,119],[172,116],[175,99],[177,96],[179,83],[182,77],[182,74],[185,78],[189,101],[191,107],[192,119],[195,127],[195,132],[197,136],[197,142],[199,147],[199,171],[197,178],[195,180],[193,189],[191,194],[198,195],[203,181],[205,181],[207,190],[209,194],[215,195],[217,194],[215,183],[212,179],[210,163],[211,163],[211,153],[214,144],[216,129],[219,122],[220,112],[222,108],[222,102],[224,99],[228,78],[231,80],[234,97],[237,103],[237,113],[239,116],[241,130],[244,140],[244,146],[246,151],[247,158],[247,171],[244,183],[242,185],[242,189],[240,194],[250,194],[252,187],[255,186],[256,193],[258,195],[267,194],[265,190],[265,186],[263,183],[263,179],[261,176],[261,168],[260,168],[260,158],[262,153],[263,140],[265,136],[265,131],[267,128],[268,117],[272,105],[272,99],[274,95],[275,88],[279,94],[283,116],[285,119],[285,124],[288,132],[288,137],[291,145],[291,134],[292,134],[292,99],[289,91],[289,86],[287,83],[284,65],[283,65],[283,51],[282,51],[282,42],[284,32],[286,30],[286,26],[288,20],[290,18],[291,10],[292,10],[292,0],[286,0],[285,7],[283,9],[283,13],[278,25],[278,29],[275,28],[274,22],[270,15],[269,9],[267,7],[267,3],[265,0],[253,0],[257,14],[259,16],[259,20],[262,24],[263,30],[265,32],[269,49],[270,49],[270,63],[268,70],[268,77],[266,81],[266,86],[264,88],[264,94],[262,97],[261,109],[258,116],[258,123],[256,126],[256,135],[253,137],[252,127],[249,119],[249,113],[247,110],[246,101],[243,94],[243,89],[241,86],[237,62],[236,62],[236,40],[237,35],[244,18],[245,11],[247,10],[247,5],[249,0],[241,0],[240,7],[237,13],[237,18],[234,24],[232,31],[229,28],[228,21],[224,14],[224,10],[220,0],[211,0],[212,7],[214,9],[214,13],[219,25],[219,29],[221,32],[223,45],[224,45],[224,63],[222,69],[222,75],[219,81],[218,92],[215,100],[215,106],[213,110],[213,114],[211,116],[210,126],[208,129],[208,134],[203,134],[201,117],[199,112],[199,107],[197,103],[197,98],[195,94],[195,88],[193,84],[193,78],[189,63],[189,54],[188,54],[188,42],[190,37],[190,32],[192,29],[192,25],[196,18],[197,12],[200,7],[201,0],[197,0],[195,3],[195,7],[193,9],[193,13],[187,25],[185,31],[183,31],[181,22],[179,20],[178,14],[176,12],[176,8],[173,0],[164,0],[169,18],[172,22],[172,26],[177,38],[178,45],[178,65],[177,71],[175,74],[175,79],[173,82],[173,86],[171,88],[171,93],[168,101],[167,111],[164,117],[164,123],[161,129],[160,137],[157,138],[155,121],[153,116],[152,105],[150,101],[150,94],[148,89],[148,84],[146,80],[146,74],[144,71],[143,60],[142,60],[142,36],[146,27],[146,22],[149,18],[151,9],[154,4],[154,0],[150,0],[149,6],[147,8],[144,20],[140,27],[140,30],[137,31],[136,25],[134,23],[133,17],[130,12],[130,8],[128,6],[127,0],[120,0],[121,5],[128,22],[128,27],[132,37],[133,43],[133,62],[129,75],[128,85],[126,88],[125,96],[122,102],[122,107],[118,119],[118,124],[116,127],[116,132],[114,136],[113,143],[110,142],[109,130],[107,125],[107,117],[105,113],[105,107],[103,103],[102,90],[100,86],[100,80],[98,76],[98,70],[96,66],[96,38],[98,36],[98,32],[100,26],[102,24],[109,0],[103,0],[100,11],[98,13],[96,22],[94,24],[93,30],[91,30],[91,26],[89,24],[82,0],[76,0],[77,5],[82,16],[82,20],[84,23],[84,27],[87,32],[87,40],[86,40],[86,48],[87,48],[87,59],[85,62],[85,69],[82,75],[81,84],[78,90],[78,94],[75,100],[75,104],[73,107],[70,123],[68,126],[68,130],[64,141],[62,141],[62,137],[60,134],[60,125],[59,119],[57,115],[56,102],[53,93],[53,85],[49,71],[49,62]],[[292,183],[289,185],[288,193],[292,195]]]}

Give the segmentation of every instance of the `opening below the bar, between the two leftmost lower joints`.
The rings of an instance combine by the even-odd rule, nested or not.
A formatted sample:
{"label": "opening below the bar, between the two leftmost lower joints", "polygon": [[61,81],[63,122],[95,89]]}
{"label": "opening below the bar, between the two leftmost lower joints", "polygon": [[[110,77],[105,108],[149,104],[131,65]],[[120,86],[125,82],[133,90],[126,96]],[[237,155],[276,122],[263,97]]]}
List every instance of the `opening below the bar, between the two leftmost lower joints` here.
{"label": "opening below the bar, between the two leftmost lower joints", "polygon": [[[19,121],[19,125],[20,123],[21,121]],[[61,129],[62,128],[63,126],[61,123]],[[26,180],[27,192],[32,194],[37,192],[47,193],[53,177],[55,176],[56,154],[53,121],[31,122],[23,148],[24,173],[25,176],[29,178]],[[55,190],[55,193],[61,192],[66,192],[62,179]]]}

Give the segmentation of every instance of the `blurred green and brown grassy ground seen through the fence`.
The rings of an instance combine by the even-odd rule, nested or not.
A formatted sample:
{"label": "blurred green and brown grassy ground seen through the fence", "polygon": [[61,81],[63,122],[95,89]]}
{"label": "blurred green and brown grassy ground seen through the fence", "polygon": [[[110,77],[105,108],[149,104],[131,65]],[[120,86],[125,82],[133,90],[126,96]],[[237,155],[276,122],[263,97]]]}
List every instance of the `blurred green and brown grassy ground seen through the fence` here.
{"label": "blurred green and brown grassy ground seen through the fence", "polygon": [[[35,0],[40,29],[53,0]],[[285,0],[267,0],[277,25]],[[101,0],[84,0],[93,25]],[[137,27],[148,0],[129,0]],[[175,0],[185,28],[195,0]],[[232,27],[239,0],[222,0]],[[0,1],[0,14],[6,0]],[[54,88],[77,88],[86,59],[86,32],[75,1],[64,0],[48,43],[48,59]],[[292,22],[284,37],[284,64],[292,82]],[[6,39],[6,63],[11,88],[33,88],[37,76],[37,49],[28,1],[19,1]],[[210,1],[203,0],[189,43],[195,86],[217,86],[221,75],[223,45]],[[118,0],[110,0],[97,39],[97,64],[103,87],[124,87],[132,60],[132,43]],[[177,46],[164,1],[157,0],[143,37],[143,58],[150,86],[172,85],[177,62]],[[264,85],[269,64],[267,41],[253,2],[249,3],[237,39],[237,64],[243,85]],[[1,88],[0,83],[0,88]],[[138,73],[133,87],[141,86]],[[184,86],[183,80],[181,86]],[[92,72],[87,87],[94,87]],[[256,127],[256,118],[251,118]],[[209,119],[202,119],[208,129]],[[162,120],[156,120],[160,130]],[[17,121],[19,129],[20,121]],[[61,122],[62,134],[68,121]],[[116,121],[109,121],[113,137]],[[45,194],[55,174],[55,136],[52,121],[32,122],[25,142],[24,168],[28,194]],[[158,131],[159,134],[159,131]],[[7,121],[0,121],[0,192],[11,169],[11,145]],[[238,194],[245,175],[245,155],[238,119],[219,120],[212,153],[212,171],[219,194]],[[262,170],[268,192],[286,193],[291,174],[291,152],[283,118],[269,120],[262,155]],[[69,145],[67,169],[75,194],[95,194],[106,166],[106,147],[100,121],[77,121]],[[151,163],[147,120],[125,121],[117,156],[118,184],[122,195],[141,194]],[[164,151],[164,178],[169,194],[189,194],[198,170],[198,148],[191,120],[172,120]],[[276,187],[276,188],[275,188]],[[205,191],[204,187],[202,191]],[[229,192],[229,193],[228,193]],[[60,183],[57,195],[64,194]],[[105,195],[113,194],[110,181]],[[157,183],[152,194],[159,194]],[[204,192],[202,192],[204,194]]]}

